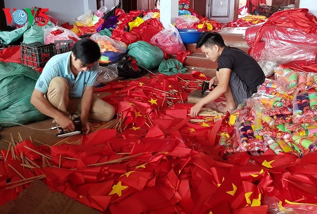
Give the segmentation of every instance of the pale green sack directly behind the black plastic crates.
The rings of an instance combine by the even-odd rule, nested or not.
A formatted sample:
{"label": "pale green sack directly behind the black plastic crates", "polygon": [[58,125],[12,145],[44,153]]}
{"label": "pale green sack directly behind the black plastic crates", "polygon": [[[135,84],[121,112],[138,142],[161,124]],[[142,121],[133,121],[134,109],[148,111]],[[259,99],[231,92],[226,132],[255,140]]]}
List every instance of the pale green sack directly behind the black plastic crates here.
{"label": "pale green sack directly behind the black plastic crates", "polygon": [[44,26],[39,26],[38,24],[34,24],[31,26],[29,30],[27,30],[23,34],[23,42],[26,44],[31,44],[34,42],[40,42],[44,44],[44,29],[54,28],[55,25],[51,21],[49,21]]}

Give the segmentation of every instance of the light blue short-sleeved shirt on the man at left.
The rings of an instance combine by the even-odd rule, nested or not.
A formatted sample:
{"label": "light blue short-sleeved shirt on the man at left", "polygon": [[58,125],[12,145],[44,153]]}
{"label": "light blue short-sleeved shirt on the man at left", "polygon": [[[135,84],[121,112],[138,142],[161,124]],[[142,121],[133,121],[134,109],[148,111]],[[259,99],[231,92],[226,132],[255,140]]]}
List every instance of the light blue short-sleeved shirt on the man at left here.
{"label": "light blue short-sleeved shirt on the man at left", "polygon": [[94,86],[99,71],[99,63],[87,71],[81,71],[75,78],[70,70],[71,51],[53,56],[45,65],[35,89],[47,93],[50,81],[57,76],[64,77],[69,86],[69,97],[82,97],[87,86]]}

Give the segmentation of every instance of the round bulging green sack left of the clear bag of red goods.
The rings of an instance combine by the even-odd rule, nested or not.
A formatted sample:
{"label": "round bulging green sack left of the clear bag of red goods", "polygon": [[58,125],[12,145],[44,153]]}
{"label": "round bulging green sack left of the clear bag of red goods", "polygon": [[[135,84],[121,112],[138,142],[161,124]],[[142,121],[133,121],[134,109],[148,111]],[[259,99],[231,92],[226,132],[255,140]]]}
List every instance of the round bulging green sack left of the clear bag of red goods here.
{"label": "round bulging green sack left of the clear bag of red goods", "polygon": [[128,55],[132,56],[136,63],[146,69],[152,69],[160,65],[163,60],[163,51],[144,41],[138,41],[128,46]]}

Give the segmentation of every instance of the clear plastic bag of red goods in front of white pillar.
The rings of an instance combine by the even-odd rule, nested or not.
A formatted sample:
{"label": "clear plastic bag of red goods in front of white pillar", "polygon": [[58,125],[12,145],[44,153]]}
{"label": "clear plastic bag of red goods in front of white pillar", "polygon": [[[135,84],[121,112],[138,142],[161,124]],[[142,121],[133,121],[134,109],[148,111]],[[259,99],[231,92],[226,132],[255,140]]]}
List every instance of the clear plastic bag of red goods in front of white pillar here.
{"label": "clear plastic bag of red goods in front of white pillar", "polygon": [[183,40],[178,30],[170,24],[169,29],[165,29],[155,34],[151,38],[152,45],[155,45],[165,51],[167,54],[178,54],[186,51]]}

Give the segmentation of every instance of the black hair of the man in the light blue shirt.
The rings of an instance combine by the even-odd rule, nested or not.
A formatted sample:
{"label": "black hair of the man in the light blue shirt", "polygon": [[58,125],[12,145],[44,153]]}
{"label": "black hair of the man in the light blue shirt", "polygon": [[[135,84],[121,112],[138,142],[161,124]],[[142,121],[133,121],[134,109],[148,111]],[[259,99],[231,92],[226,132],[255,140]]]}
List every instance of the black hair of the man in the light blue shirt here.
{"label": "black hair of the man in the light blue shirt", "polygon": [[82,66],[96,62],[101,57],[99,45],[87,38],[78,40],[72,47],[72,53],[75,60],[80,59],[82,61]]}

